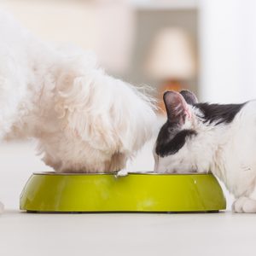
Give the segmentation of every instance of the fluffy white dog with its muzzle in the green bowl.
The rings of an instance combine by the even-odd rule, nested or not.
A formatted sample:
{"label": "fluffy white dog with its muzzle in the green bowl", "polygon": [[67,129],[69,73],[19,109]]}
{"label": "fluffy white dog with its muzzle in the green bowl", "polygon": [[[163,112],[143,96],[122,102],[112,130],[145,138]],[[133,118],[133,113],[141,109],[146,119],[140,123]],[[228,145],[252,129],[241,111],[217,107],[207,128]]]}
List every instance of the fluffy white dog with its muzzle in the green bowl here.
{"label": "fluffy white dog with its muzzle in the green bowl", "polygon": [[154,104],[79,49],[55,49],[0,12],[1,138],[35,137],[55,172],[116,172],[152,133]]}

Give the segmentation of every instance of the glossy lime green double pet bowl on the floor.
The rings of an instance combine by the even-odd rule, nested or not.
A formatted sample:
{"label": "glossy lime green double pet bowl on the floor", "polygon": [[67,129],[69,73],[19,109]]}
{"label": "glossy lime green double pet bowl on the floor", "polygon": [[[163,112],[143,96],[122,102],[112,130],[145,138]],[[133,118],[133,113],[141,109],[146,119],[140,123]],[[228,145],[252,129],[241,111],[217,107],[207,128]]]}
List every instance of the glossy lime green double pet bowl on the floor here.
{"label": "glossy lime green double pet bowl on the floor", "polygon": [[34,173],[20,195],[27,212],[215,212],[226,201],[212,174]]}

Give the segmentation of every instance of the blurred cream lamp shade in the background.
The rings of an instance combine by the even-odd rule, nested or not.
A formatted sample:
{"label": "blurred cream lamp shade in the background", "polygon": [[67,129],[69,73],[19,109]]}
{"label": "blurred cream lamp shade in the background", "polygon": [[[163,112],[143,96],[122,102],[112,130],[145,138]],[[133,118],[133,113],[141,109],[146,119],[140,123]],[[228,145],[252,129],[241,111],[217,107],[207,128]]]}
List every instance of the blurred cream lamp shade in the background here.
{"label": "blurred cream lamp shade in the background", "polygon": [[153,79],[193,78],[195,50],[189,34],[180,28],[161,30],[154,38],[146,70]]}

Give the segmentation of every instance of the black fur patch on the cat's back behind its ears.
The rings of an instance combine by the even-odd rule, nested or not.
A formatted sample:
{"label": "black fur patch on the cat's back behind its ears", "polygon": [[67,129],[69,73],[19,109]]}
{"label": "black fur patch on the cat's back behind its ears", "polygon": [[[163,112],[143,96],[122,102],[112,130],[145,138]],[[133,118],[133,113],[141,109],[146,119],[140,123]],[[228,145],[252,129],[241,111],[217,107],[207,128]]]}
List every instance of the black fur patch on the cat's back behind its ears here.
{"label": "black fur patch on the cat's back behind its ears", "polygon": [[209,104],[196,103],[194,106],[199,108],[204,115],[205,122],[216,122],[219,124],[229,124],[235,118],[241,108],[246,103],[242,104]]}

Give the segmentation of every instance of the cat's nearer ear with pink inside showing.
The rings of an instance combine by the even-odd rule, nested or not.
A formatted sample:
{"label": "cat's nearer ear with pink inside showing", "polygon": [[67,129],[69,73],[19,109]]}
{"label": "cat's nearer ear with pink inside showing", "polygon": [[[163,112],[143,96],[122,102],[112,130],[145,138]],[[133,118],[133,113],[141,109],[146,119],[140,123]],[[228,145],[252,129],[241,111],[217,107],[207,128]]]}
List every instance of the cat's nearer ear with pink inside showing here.
{"label": "cat's nearer ear with pink inside showing", "polygon": [[168,120],[183,125],[185,119],[191,117],[188,104],[181,94],[172,90],[166,91],[163,98]]}

